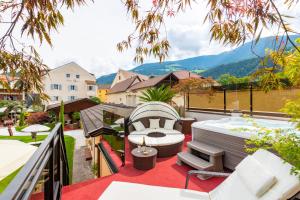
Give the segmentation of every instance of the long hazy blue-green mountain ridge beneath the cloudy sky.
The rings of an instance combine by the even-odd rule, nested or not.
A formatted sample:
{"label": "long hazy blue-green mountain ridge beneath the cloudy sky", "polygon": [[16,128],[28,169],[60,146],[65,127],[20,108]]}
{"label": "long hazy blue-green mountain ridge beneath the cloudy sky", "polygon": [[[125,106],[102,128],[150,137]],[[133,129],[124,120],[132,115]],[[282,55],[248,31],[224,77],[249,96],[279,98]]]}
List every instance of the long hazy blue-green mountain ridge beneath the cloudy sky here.
{"label": "long hazy blue-green mountain ridge beneath the cloudy sky", "polygon": [[[298,37],[300,37],[300,35],[292,35],[291,39],[295,40]],[[286,38],[283,39],[285,40]],[[275,36],[261,38],[253,47],[253,50],[252,46],[252,42],[247,42],[232,51],[227,51],[216,55],[197,56],[176,61],[165,61],[162,63],[146,63],[139,65],[130,71],[144,75],[155,76],[166,74],[175,70],[188,70],[200,73],[221,65],[228,65],[227,69],[229,69],[229,65],[256,58],[257,56],[253,53],[253,51],[259,56],[264,56],[265,49],[273,48],[275,46]],[[287,47],[291,47],[291,44],[288,43]],[[97,79],[97,83],[111,83],[114,79],[114,76],[115,74],[101,76]]]}

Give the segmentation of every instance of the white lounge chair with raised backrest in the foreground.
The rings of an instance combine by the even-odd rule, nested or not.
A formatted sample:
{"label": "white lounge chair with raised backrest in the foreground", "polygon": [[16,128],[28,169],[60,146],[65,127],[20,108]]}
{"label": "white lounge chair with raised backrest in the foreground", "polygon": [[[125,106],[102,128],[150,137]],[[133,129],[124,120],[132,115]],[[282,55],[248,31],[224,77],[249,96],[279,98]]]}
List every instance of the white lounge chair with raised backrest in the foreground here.
{"label": "white lounge chair with raised backrest in the foreground", "polygon": [[[258,150],[209,193],[188,189],[112,182],[100,200],[284,200],[300,191],[300,181],[290,174],[291,165],[276,155]],[[191,174],[207,174],[193,170]],[[215,175],[228,175],[215,173]],[[187,179],[188,181],[188,179]]]}

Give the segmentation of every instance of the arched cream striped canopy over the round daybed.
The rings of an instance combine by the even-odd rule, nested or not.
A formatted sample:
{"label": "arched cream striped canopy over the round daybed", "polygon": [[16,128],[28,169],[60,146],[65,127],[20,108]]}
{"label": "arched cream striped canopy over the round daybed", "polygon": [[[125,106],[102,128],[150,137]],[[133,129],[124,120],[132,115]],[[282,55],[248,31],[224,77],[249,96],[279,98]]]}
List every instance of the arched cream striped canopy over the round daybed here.
{"label": "arched cream striped canopy over the round daybed", "polygon": [[131,122],[137,121],[145,117],[164,117],[168,119],[179,120],[180,116],[177,111],[169,104],[151,101],[139,105],[130,115]]}

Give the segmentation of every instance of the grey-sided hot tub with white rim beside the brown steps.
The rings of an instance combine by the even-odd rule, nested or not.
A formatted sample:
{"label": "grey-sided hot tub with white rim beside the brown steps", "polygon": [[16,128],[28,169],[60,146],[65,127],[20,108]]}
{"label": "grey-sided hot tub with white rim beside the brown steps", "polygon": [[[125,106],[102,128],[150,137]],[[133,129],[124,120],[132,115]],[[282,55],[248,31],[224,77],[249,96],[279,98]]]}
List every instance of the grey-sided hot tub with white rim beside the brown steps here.
{"label": "grey-sided hot tub with white rim beside the brown steps", "polygon": [[193,140],[224,149],[224,166],[234,170],[235,166],[247,156],[244,150],[245,139],[257,134],[258,127],[300,133],[296,131],[295,125],[288,121],[228,117],[195,122],[192,124],[192,135]]}

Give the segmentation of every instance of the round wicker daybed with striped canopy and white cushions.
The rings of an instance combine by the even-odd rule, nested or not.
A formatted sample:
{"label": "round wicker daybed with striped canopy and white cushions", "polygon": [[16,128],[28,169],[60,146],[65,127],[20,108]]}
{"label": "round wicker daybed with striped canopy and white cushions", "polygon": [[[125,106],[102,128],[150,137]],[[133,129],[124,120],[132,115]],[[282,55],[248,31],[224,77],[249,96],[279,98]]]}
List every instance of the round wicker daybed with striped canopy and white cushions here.
{"label": "round wicker daybed with striped canopy and white cushions", "polygon": [[[151,127],[151,120],[158,120],[155,128]],[[140,130],[135,127],[137,122],[140,123]],[[167,128],[166,123],[172,123],[172,125]],[[182,150],[185,138],[181,133],[181,128],[180,116],[169,104],[153,101],[139,105],[129,117],[130,149],[141,145],[145,139],[147,146],[157,149],[158,157],[176,155]],[[151,135],[151,133],[162,135]]]}

